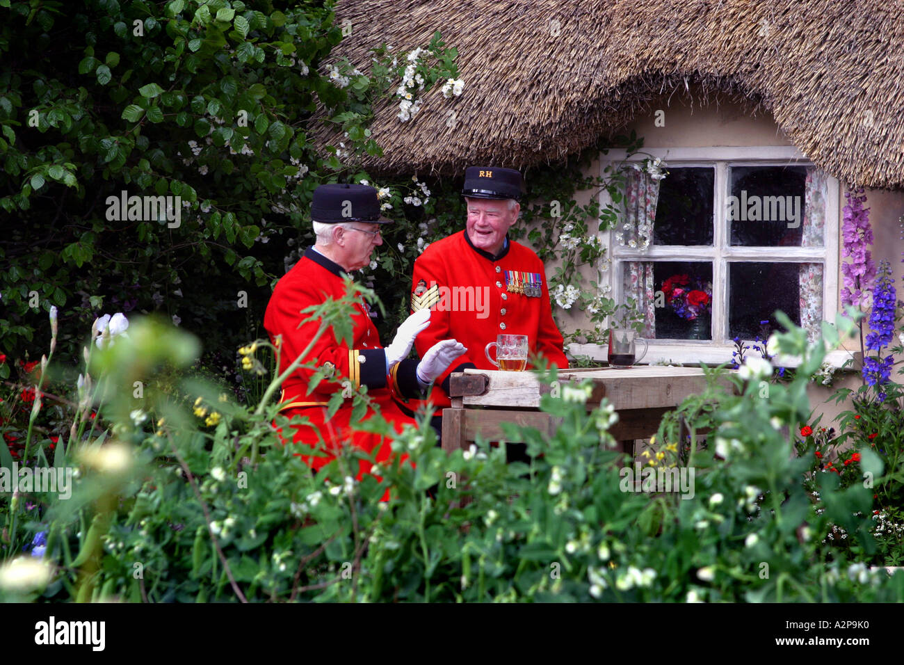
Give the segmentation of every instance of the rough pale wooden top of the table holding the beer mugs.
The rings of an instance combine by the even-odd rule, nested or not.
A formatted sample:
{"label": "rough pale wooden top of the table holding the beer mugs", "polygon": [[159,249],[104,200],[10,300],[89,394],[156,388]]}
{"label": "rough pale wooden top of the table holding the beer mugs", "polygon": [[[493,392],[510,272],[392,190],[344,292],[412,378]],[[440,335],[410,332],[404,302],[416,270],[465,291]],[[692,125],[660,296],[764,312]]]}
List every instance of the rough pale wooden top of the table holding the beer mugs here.
{"label": "rough pale wooden top of the table holding the beer mugs", "polygon": [[[466,374],[478,373],[466,369]],[[539,408],[540,396],[549,392],[541,389],[540,381],[532,372],[492,372],[480,370],[489,378],[485,394],[466,395],[465,406],[503,406]],[[706,377],[697,367],[632,367],[631,369],[598,369],[582,372],[575,378],[589,379],[602,386],[610,404],[622,409],[674,407],[692,394],[700,394],[706,387]],[[560,384],[570,375],[560,375]],[[723,379],[725,385],[728,381]]]}

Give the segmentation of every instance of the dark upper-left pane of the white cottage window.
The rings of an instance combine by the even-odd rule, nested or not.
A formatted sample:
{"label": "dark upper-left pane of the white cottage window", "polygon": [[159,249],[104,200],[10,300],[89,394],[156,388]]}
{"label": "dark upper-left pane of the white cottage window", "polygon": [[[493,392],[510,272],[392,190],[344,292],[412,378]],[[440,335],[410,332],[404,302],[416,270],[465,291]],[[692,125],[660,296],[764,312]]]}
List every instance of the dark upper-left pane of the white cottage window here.
{"label": "dark upper-left pane of the white cottage window", "polygon": [[669,168],[659,181],[653,225],[656,245],[712,245],[715,170]]}

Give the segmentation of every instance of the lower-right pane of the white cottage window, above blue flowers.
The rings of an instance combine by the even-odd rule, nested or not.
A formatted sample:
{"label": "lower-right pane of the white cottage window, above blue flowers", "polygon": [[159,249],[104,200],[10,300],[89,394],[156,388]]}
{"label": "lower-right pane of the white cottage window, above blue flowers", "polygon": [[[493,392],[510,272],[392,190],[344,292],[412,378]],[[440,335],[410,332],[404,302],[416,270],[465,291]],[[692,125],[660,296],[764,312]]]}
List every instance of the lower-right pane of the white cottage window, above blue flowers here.
{"label": "lower-right pane of the white cottage window, above blue flowers", "polygon": [[[729,337],[753,339],[781,330],[773,312],[781,309],[796,325],[801,325],[801,283],[804,280],[804,307],[822,318],[822,271],[818,271],[818,290],[810,291],[814,281],[812,263],[729,263]],[[821,266],[820,266],[821,268]],[[812,302],[808,302],[812,301]],[[815,318],[815,317],[810,317]],[[760,324],[760,321],[768,321]],[[816,321],[805,321],[808,326]]]}

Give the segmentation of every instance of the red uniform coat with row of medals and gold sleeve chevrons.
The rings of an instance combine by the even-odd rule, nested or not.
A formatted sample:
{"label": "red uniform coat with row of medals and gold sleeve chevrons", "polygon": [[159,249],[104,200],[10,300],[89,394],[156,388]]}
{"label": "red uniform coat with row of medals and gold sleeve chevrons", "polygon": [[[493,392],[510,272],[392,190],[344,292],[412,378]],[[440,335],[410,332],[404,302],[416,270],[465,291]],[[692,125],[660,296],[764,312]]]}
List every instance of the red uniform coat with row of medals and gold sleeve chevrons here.
{"label": "red uniform coat with row of medals and gold sleeve chevrons", "polygon": [[441,394],[434,390],[431,395],[437,407],[449,406],[452,372],[466,367],[497,369],[486,359],[484,349],[500,333],[527,335],[529,354],[544,356],[550,365],[568,367],[561,333],[552,320],[543,262],[519,242],[509,241],[496,257],[471,244],[466,231],[430,243],[414,261],[411,302],[412,311],[434,310],[429,328],[415,340],[419,356],[443,339],[455,338],[467,347],[466,354],[439,375],[436,383]]}

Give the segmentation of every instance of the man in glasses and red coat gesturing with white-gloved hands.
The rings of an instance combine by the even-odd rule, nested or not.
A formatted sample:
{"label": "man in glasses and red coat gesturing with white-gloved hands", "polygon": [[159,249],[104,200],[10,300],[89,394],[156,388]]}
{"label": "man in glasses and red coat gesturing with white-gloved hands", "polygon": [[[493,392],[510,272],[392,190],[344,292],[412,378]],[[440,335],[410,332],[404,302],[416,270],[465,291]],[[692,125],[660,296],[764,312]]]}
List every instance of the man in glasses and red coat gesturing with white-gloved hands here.
{"label": "man in glasses and red coat gesturing with white-gloved hands", "polygon": [[[274,345],[281,349],[279,372],[303,353],[315,337],[318,321],[301,322],[309,314],[301,311],[319,305],[325,299],[341,299],[345,295],[344,276],[363,268],[371,261],[373,249],[382,244],[381,224],[390,223],[380,215],[377,190],[366,185],[321,185],[314,193],[311,207],[317,242],[295,266],[278,281],[264,315],[264,328]],[[419,311],[406,319],[388,347],[382,347],[374,327],[371,310],[363,300],[353,314],[351,347],[336,341],[332,328],[325,330],[302,362],[313,363],[329,378],[310,390],[308,382],[315,369],[299,368],[283,384],[282,411],[290,419],[306,416],[309,424],[293,424],[294,442],[318,444],[323,441],[325,454],[306,461],[316,470],[333,459],[333,452],[351,443],[363,451],[375,452],[375,461],[391,457],[389,442],[378,434],[363,432],[352,422],[350,385],[366,385],[383,418],[401,432],[405,423],[415,424],[402,413],[393,399],[422,396],[428,386],[466,348],[455,339],[444,338],[424,349],[420,361],[408,359],[419,332],[427,330],[429,310]],[[330,397],[344,391],[344,403],[332,418],[326,417]],[[369,407],[362,421],[375,413]],[[371,470],[362,461],[357,474],[360,480]]]}

